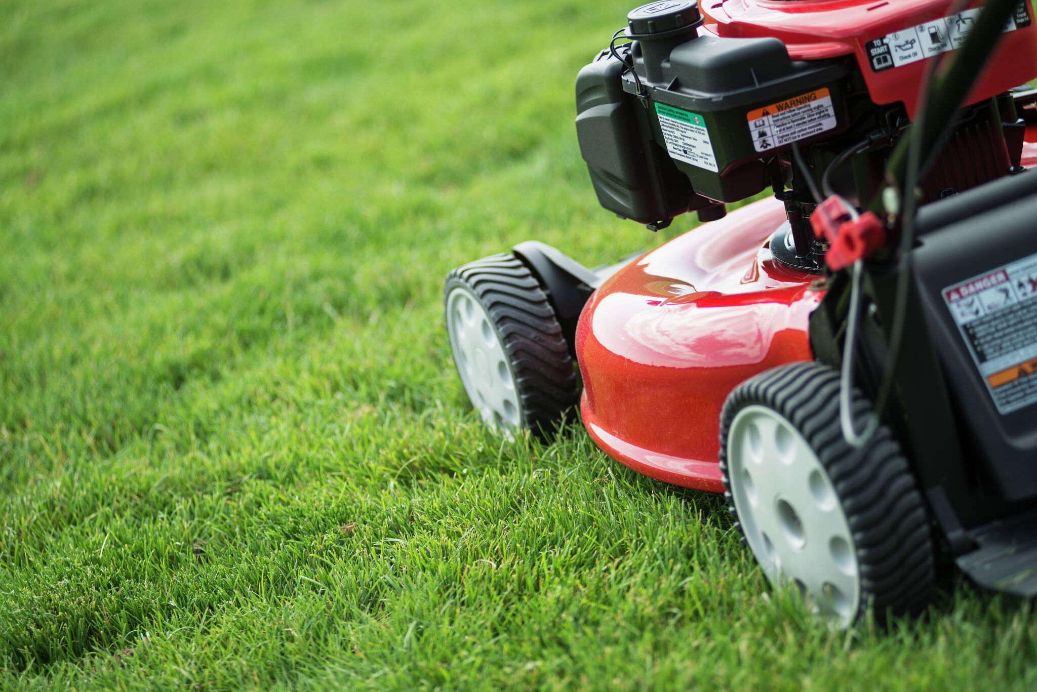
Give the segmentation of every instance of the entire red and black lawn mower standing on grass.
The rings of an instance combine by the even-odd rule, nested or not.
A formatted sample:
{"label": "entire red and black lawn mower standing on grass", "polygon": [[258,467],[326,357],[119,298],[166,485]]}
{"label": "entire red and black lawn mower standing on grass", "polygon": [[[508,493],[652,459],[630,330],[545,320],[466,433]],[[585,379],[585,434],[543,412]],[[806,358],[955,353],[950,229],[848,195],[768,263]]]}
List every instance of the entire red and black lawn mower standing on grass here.
{"label": "entire red and black lawn mower standing on grass", "polygon": [[579,404],[612,458],[725,493],[841,626],[920,611],[950,561],[1037,594],[1029,0],[707,1],[632,10],[577,78],[601,205],[707,223],[609,267],[528,242],[451,272],[473,406],[507,432]]}

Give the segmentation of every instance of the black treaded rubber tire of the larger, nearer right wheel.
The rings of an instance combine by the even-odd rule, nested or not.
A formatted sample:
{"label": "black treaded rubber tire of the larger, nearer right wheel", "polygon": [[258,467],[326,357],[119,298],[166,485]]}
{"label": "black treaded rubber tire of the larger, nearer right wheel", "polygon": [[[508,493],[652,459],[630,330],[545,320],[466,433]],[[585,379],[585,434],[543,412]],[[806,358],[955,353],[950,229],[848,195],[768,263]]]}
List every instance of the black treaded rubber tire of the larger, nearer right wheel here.
{"label": "black treaded rubber tire of the larger, nearer right wheel", "polygon": [[[852,536],[861,598],[844,624],[863,616],[869,607],[879,622],[885,622],[888,614],[917,614],[929,603],[934,572],[933,543],[922,495],[886,425],[879,425],[860,449],[846,443],[839,424],[839,373],[817,362],[782,365],[738,385],[721,414],[720,468],[725,496],[731,513],[740,519],[729,477],[732,421],[754,405],[777,412],[802,435],[828,473]],[[853,391],[851,410],[858,431],[874,415],[859,390]],[[742,522],[737,521],[736,526],[752,549]],[[755,549],[753,553],[762,565],[761,556]]]}

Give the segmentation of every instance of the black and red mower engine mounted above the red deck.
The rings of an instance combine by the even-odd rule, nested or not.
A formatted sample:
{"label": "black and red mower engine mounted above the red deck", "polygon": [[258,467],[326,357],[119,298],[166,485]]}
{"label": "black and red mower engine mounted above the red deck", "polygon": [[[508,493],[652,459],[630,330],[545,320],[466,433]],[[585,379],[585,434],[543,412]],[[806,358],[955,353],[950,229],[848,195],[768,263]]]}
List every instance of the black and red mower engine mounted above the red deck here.
{"label": "black and red mower engine mounted above the red deck", "polygon": [[[708,24],[694,0],[638,7],[617,36],[628,43],[610,45],[577,78],[577,133],[599,202],[654,230],[690,211],[721,218],[726,202],[773,187],[792,231],[776,249],[794,239],[793,266],[819,269],[810,255],[823,252],[823,242],[810,247],[813,200],[806,182],[793,179],[790,147],[804,147],[815,171],[866,149],[831,183],[854,205],[871,199],[915,115],[925,58],[958,48],[968,35],[959,27],[972,26],[980,9],[906,29],[902,18],[946,5],[718,2]],[[1012,31],[1031,22],[1019,3]],[[899,30],[871,38],[890,28]],[[1032,32],[1006,44],[946,133],[941,161],[922,182],[923,201],[1018,169],[1026,126],[1010,90],[1037,65]]]}

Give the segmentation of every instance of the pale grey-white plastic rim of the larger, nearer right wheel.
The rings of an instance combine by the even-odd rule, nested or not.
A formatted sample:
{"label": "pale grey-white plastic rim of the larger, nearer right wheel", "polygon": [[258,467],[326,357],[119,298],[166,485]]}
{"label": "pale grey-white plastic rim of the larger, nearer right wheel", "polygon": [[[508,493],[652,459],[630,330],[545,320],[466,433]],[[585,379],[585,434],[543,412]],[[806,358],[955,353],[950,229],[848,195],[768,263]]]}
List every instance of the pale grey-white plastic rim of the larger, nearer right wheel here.
{"label": "pale grey-white plastic rim of the larger, nearer right wheel", "polygon": [[731,421],[728,482],[749,548],[772,584],[794,584],[811,609],[848,627],[861,602],[853,536],[832,479],[784,416],[751,405]]}

